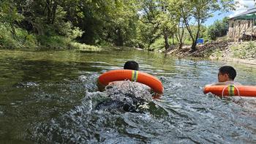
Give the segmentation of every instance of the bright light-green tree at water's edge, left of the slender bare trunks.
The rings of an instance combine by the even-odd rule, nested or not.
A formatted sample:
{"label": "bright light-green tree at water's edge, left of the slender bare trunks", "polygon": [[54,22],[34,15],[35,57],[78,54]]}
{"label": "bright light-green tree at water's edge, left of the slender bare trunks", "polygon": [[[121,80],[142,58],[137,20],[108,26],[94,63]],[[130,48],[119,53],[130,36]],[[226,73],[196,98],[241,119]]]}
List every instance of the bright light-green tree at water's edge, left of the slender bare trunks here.
{"label": "bright light-green tree at water's edge, left of the slender bare trunks", "polygon": [[[165,39],[165,50],[170,48],[168,39],[176,33],[174,10],[166,0],[140,1],[140,39],[150,46],[156,39]],[[149,47],[148,46],[148,47]]]}

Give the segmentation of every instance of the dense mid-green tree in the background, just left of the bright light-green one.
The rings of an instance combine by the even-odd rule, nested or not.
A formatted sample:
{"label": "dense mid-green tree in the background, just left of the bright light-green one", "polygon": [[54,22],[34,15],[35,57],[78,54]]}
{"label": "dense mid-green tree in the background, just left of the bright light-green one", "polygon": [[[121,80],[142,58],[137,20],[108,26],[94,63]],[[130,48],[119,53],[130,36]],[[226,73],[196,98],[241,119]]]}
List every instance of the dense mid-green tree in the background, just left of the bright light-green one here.
{"label": "dense mid-green tree in the background, just left of the bright light-green one", "polygon": [[116,6],[113,12],[105,18],[106,23],[104,33],[108,39],[115,45],[134,45],[136,27],[138,23],[137,8],[135,1],[116,1]]}

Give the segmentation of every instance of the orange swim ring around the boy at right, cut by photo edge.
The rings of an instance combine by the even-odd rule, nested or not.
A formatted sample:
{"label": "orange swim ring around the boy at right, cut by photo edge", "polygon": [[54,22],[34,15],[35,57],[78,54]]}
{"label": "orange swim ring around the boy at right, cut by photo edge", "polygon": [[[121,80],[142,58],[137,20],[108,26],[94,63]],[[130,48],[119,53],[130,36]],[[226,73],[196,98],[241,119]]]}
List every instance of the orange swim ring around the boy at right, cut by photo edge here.
{"label": "orange swim ring around the boy at right, cut by photo edge", "polygon": [[217,96],[255,96],[256,86],[206,86],[203,90],[205,94],[211,92]]}

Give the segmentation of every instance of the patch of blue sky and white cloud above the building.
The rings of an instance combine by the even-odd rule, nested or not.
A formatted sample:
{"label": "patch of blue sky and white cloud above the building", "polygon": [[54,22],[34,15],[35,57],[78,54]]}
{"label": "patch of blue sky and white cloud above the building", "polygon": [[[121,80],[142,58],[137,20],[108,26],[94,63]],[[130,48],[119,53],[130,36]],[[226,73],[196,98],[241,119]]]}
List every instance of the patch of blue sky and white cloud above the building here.
{"label": "patch of blue sky and white cloud above the building", "polygon": [[206,20],[206,23],[204,23],[206,26],[210,26],[214,23],[215,20],[222,20],[224,17],[233,17],[235,15],[240,14],[241,12],[245,12],[246,10],[252,9],[255,7],[255,1],[253,0],[235,0],[238,1],[238,4],[236,5],[236,10],[231,12],[214,12],[214,17],[209,18]]}

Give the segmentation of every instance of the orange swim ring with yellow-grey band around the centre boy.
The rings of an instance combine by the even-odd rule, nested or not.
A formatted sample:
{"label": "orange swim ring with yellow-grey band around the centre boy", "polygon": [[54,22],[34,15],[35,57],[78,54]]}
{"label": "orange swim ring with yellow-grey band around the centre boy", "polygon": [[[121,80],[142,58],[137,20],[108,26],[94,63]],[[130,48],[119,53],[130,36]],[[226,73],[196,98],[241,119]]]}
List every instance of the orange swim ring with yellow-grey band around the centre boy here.
{"label": "orange swim ring with yellow-grey band around the centre boy", "polygon": [[149,86],[155,93],[163,94],[164,88],[160,80],[157,77],[147,74],[146,72],[140,72],[129,69],[110,70],[103,73],[98,78],[98,86],[105,88],[110,82],[118,80],[131,80],[138,83],[143,83]]}

